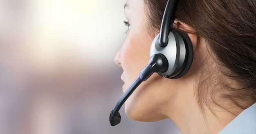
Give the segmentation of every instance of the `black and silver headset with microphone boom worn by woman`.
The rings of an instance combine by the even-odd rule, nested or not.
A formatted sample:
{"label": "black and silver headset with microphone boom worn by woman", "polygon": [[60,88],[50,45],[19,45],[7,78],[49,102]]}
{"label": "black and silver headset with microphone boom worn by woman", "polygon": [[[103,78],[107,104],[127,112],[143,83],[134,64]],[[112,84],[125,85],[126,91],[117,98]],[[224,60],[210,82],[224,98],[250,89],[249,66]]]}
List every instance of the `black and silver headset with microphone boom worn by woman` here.
{"label": "black and silver headset with microphone boom worn by woman", "polygon": [[150,47],[148,65],[139,73],[139,77],[128,87],[126,92],[111,111],[109,121],[112,126],[120,123],[119,110],[132,92],[153,73],[165,78],[176,79],[184,76],[190,69],[193,61],[193,46],[186,33],[171,28],[177,0],[168,0],[160,33],[154,38]]}

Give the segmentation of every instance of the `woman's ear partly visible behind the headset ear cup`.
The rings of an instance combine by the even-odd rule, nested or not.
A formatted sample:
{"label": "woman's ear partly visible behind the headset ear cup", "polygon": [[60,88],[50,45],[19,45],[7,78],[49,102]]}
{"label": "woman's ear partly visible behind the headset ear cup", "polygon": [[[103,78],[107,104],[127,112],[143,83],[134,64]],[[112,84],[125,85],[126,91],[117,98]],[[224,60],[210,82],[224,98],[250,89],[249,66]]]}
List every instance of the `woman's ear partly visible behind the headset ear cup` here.
{"label": "woman's ear partly visible behind the headset ear cup", "polygon": [[200,42],[200,37],[195,34],[195,30],[189,25],[186,25],[186,23],[177,19],[174,20],[173,27],[185,31],[185,33],[189,36],[189,39],[191,40],[193,49],[195,50],[198,43]]}

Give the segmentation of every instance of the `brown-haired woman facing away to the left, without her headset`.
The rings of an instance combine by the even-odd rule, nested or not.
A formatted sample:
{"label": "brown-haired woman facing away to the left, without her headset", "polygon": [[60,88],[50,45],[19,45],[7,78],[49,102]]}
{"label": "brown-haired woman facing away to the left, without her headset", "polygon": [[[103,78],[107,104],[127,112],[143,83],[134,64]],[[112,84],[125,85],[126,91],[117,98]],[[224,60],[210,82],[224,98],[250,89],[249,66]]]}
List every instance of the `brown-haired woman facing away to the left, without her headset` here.
{"label": "brown-haired woman facing away to the left, without her headset", "polygon": [[[127,0],[127,37],[115,57],[123,92],[149,60],[167,0]],[[137,121],[171,118],[184,134],[255,133],[256,2],[178,0],[173,28],[193,45],[193,63],[178,79],[153,74],[128,98]]]}

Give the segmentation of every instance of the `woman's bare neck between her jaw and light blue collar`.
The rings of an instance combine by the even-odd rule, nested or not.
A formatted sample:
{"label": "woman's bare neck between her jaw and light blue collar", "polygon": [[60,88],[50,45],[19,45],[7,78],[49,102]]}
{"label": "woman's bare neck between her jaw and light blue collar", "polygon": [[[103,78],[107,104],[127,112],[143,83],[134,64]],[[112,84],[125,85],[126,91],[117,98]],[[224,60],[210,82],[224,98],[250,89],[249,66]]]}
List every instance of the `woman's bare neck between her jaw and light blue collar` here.
{"label": "woman's bare neck between her jaw and light blue collar", "polygon": [[182,134],[216,134],[220,132],[235,116],[223,108],[213,107],[213,103],[208,105],[209,107],[206,105],[200,107],[193,87],[186,85],[186,87],[179,88],[182,90],[178,91],[171,101],[168,117],[179,127]]}

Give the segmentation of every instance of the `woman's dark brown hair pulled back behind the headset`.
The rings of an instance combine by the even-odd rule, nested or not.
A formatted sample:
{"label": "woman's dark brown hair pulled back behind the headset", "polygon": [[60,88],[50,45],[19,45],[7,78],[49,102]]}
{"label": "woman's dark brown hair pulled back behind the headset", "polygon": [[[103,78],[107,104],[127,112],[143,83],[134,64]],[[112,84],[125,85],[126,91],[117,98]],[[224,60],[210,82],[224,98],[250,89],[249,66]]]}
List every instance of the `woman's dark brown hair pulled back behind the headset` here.
{"label": "woman's dark brown hair pulled back behind the headset", "polygon": [[[166,2],[167,0],[145,0],[150,31],[154,34],[159,32]],[[219,80],[217,84],[225,87],[222,92],[225,94],[221,97],[228,98],[241,109],[255,103],[256,1],[178,0],[175,19],[195,29],[195,34],[207,41],[209,50],[217,59],[218,71],[239,85],[239,88],[234,88],[227,80]],[[199,85],[209,81],[209,77],[202,78]],[[207,102],[204,100],[205,94],[209,94],[207,92],[214,94],[217,91],[199,89],[197,97],[200,106]]]}

